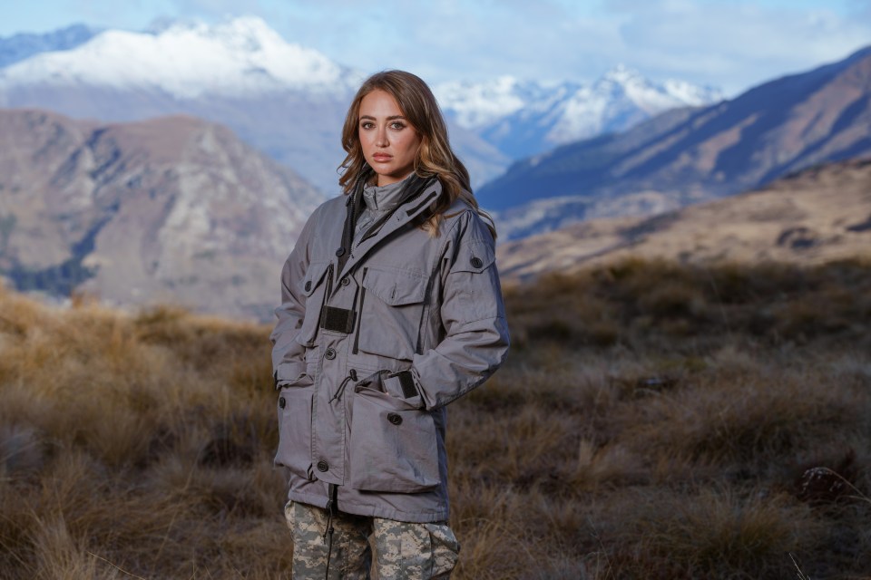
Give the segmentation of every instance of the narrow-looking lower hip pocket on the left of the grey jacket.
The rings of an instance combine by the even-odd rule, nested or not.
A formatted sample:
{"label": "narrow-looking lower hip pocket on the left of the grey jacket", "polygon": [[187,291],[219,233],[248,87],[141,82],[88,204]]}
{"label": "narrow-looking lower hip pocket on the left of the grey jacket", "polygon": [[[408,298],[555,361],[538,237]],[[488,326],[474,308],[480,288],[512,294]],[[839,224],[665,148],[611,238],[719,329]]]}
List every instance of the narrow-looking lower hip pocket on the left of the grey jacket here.
{"label": "narrow-looking lower hip pocket on the left of the grey jacket", "polygon": [[275,465],[291,473],[310,479],[311,471],[311,402],[314,389],[311,379],[302,381],[308,386],[291,386],[279,392],[279,450]]}

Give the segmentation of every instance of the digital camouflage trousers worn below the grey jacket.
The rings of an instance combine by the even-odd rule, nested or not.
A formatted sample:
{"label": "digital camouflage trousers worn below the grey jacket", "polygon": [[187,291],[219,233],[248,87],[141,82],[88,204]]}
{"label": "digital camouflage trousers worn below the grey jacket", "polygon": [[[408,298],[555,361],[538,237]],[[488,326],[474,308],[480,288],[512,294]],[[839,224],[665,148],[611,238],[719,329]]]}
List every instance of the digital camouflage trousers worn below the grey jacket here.
{"label": "digital camouflage trousers worn below the grey jacket", "polygon": [[326,509],[291,501],[284,515],[293,539],[294,580],[368,579],[370,569],[380,580],[449,578],[460,551],[446,522],[414,524],[337,511],[330,549]]}

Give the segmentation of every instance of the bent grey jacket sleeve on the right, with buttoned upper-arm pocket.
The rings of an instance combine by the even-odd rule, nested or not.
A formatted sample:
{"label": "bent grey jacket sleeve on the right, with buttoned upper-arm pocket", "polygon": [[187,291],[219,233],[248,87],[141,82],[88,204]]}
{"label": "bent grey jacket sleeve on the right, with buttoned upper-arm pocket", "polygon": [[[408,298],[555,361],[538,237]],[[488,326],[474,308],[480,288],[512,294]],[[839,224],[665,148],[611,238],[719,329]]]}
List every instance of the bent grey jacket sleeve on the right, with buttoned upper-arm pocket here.
{"label": "bent grey jacket sleeve on the right, with buttoned upper-arm pocket", "polygon": [[443,258],[440,314],[445,338],[416,354],[412,376],[428,410],[486,381],[508,353],[508,325],[494,239],[473,212],[457,223]]}

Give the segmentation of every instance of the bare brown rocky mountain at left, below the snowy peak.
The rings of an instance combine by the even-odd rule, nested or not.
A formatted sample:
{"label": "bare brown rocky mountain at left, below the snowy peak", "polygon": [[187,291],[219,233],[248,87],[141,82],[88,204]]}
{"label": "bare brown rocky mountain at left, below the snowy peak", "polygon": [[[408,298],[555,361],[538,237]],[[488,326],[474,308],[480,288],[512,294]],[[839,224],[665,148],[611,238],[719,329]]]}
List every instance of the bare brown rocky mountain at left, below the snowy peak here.
{"label": "bare brown rocky mountain at left, below the snowy peak", "polygon": [[265,318],[322,200],[205,121],[0,110],[0,274],[20,290]]}

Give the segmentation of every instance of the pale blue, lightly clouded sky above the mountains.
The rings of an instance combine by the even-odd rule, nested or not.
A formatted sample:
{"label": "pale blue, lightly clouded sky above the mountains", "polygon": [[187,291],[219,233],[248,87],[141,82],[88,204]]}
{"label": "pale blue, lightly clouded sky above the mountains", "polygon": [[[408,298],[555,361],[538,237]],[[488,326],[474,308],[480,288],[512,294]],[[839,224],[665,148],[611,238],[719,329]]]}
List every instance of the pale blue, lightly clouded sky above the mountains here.
{"label": "pale blue, lightly clouded sky above the mountains", "polygon": [[0,0],[0,36],[262,17],[287,41],[427,82],[592,82],[618,63],[735,96],[871,45],[871,0]]}

